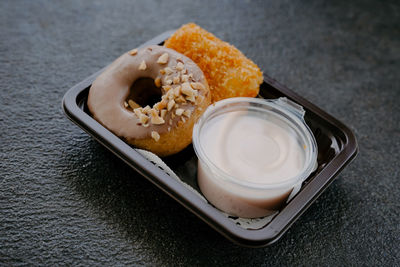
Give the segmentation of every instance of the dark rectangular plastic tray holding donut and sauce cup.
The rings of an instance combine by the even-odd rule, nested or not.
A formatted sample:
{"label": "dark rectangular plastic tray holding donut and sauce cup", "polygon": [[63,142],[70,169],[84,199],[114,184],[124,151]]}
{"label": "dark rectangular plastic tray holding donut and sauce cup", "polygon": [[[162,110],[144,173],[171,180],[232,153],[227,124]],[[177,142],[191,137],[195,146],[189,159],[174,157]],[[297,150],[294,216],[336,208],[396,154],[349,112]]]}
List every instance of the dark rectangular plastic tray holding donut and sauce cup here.
{"label": "dark rectangular plastic tray holding donut and sauce cup", "polygon": [[[173,31],[165,32],[141,46],[162,44],[172,33]],[[278,240],[358,152],[356,138],[348,127],[276,80],[264,75],[265,80],[261,85],[259,97],[285,96],[306,110],[305,120],[318,144],[318,169],[303,183],[300,192],[268,224],[257,230],[244,229],[90,116],[86,107],[87,96],[90,85],[101,71],[89,76],[65,94],[63,110],[67,117],[200,219],[240,245],[261,247]],[[192,146],[163,160],[185,183],[200,192],[196,182],[197,158]]]}

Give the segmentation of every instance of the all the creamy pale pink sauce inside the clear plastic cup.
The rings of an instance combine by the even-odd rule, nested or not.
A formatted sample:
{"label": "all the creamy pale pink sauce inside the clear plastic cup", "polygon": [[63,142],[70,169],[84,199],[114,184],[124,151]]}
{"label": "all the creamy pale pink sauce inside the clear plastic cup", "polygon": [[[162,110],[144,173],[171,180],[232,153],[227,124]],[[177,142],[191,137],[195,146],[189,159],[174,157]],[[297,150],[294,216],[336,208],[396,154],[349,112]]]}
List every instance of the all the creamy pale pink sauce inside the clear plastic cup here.
{"label": "all the creamy pale pink sauce inside the clear plastic cup", "polygon": [[[199,160],[199,187],[214,206],[235,216],[262,217],[278,210],[297,182],[290,180],[304,169],[304,147],[274,116],[266,120],[246,111],[218,115],[203,125],[199,140],[205,156],[223,173]],[[279,186],[285,181],[289,184]]]}

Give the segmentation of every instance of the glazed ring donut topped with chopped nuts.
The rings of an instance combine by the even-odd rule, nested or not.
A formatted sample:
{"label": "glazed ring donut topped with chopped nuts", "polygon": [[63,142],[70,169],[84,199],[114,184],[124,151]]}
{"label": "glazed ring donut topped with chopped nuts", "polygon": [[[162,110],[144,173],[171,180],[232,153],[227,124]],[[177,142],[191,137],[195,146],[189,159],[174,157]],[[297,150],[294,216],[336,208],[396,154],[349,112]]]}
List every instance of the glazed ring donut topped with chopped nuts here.
{"label": "glazed ring donut topped with chopped nuts", "polygon": [[127,143],[167,156],[191,143],[210,93],[191,59],[152,45],[111,63],[90,87],[87,104],[98,122]]}

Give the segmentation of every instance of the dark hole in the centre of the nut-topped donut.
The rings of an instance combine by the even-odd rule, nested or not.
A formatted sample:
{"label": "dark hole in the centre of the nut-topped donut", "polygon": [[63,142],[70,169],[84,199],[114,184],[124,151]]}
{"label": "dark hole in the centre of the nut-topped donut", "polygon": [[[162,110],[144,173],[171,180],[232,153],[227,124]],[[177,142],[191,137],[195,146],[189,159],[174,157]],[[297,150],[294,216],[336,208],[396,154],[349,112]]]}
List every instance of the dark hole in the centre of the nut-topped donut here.
{"label": "dark hole in the centre of the nut-topped donut", "polygon": [[152,107],[161,101],[161,95],[161,88],[155,86],[152,78],[139,78],[132,84],[126,102],[133,100],[141,107]]}

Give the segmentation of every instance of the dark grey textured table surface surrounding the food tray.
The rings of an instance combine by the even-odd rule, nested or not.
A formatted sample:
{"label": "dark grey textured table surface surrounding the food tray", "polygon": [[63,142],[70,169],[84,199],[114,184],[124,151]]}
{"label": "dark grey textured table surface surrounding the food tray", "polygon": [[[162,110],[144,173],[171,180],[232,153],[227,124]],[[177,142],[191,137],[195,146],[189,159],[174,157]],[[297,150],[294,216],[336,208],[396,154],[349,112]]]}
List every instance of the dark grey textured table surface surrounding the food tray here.
{"label": "dark grey textured table surface surrounding the food tray", "polygon": [[[194,21],[348,125],[359,155],[275,244],[234,245],[61,110]],[[0,1],[0,265],[400,264],[398,1]]]}

